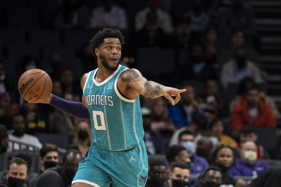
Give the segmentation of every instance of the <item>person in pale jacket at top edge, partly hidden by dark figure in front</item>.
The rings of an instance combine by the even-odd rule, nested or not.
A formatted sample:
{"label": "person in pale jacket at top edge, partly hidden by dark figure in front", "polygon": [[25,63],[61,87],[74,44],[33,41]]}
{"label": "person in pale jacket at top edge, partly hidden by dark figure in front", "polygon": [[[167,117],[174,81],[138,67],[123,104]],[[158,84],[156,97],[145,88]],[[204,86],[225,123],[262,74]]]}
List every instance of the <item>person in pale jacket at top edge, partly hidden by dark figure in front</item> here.
{"label": "person in pale jacket at top edge, partly hidden by dark figure in front", "polygon": [[164,30],[165,33],[173,31],[171,16],[163,11],[160,7],[160,0],[148,0],[148,6],[137,12],[135,17],[135,30],[139,31],[147,24],[147,14],[155,12],[157,15],[157,25]]}

